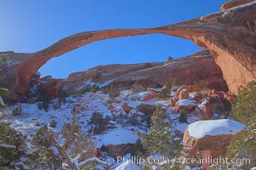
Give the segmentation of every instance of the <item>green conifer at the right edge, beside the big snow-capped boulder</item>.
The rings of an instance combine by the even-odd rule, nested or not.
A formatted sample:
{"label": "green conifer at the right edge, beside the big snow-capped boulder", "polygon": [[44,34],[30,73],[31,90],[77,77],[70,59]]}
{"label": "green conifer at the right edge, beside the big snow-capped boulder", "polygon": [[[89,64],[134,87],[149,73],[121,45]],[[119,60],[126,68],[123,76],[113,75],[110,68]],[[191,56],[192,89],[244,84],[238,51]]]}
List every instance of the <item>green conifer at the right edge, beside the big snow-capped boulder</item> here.
{"label": "green conifer at the right edge, beside the big snow-capped boulder", "polygon": [[249,82],[239,89],[232,102],[231,115],[247,128],[231,139],[227,155],[230,158],[249,158],[250,164],[244,164],[244,169],[249,169],[256,166],[256,82]]}

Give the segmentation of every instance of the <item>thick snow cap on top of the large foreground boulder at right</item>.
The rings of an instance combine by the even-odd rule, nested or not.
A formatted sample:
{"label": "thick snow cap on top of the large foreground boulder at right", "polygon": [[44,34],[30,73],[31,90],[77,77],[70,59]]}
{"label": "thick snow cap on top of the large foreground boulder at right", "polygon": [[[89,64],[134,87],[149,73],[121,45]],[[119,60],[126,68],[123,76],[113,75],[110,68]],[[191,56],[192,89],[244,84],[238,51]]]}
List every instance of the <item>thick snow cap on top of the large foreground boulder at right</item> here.
{"label": "thick snow cap on top of the large foreground boulder at right", "polygon": [[202,139],[207,135],[235,134],[240,132],[243,128],[244,125],[241,122],[219,119],[193,122],[188,126],[188,132],[192,137]]}

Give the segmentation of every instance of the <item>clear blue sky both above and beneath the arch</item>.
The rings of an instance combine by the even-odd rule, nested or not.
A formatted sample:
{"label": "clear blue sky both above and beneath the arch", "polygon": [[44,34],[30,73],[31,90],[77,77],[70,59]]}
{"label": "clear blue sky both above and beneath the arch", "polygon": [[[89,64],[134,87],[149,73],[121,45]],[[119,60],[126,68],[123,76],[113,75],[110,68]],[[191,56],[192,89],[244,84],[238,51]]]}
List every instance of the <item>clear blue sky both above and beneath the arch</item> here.
{"label": "clear blue sky both above and beneath the arch", "polygon": [[[219,11],[225,0],[0,0],[0,51],[36,52],[81,31],[164,26]],[[199,50],[160,34],[94,42],[51,59],[42,76],[95,65],[164,61]]]}

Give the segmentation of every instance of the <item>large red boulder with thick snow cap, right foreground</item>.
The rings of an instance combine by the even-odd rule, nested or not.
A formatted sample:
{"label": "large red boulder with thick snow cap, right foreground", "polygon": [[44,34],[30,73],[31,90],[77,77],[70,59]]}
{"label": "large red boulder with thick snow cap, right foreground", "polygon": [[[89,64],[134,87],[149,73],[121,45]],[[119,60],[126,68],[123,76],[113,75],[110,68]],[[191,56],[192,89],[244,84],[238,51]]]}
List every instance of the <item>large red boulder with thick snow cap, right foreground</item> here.
{"label": "large red boulder with thick snow cap, right foreground", "polygon": [[[191,158],[196,158],[198,153],[205,160],[219,158],[225,154],[233,135],[243,127],[242,123],[228,119],[193,122],[185,129],[185,150]],[[204,167],[209,165],[211,162],[204,161]]]}

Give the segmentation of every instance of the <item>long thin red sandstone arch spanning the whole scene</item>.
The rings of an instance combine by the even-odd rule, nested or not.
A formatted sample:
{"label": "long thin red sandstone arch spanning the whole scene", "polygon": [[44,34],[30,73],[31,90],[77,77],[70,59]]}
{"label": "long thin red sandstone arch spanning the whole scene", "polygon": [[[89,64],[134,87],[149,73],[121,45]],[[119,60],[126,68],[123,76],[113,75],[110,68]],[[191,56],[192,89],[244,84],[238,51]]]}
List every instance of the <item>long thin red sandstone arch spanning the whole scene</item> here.
{"label": "long thin red sandstone arch spanning the whole scene", "polygon": [[[238,2],[238,3],[236,3]],[[162,33],[191,39],[208,48],[221,68],[231,93],[240,85],[256,80],[256,2],[230,1],[223,11],[174,25],[150,29],[88,31],[66,37],[34,54],[1,53],[12,65],[1,64],[0,86],[11,88],[15,95],[26,94],[30,79],[49,59],[103,39]],[[246,4],[245,4],[246,3]],[[236,8],[234,5],[240,5]],[[10,77],[8,79],[8,77]],[[6,82],[8,79],[9,82]]]}

